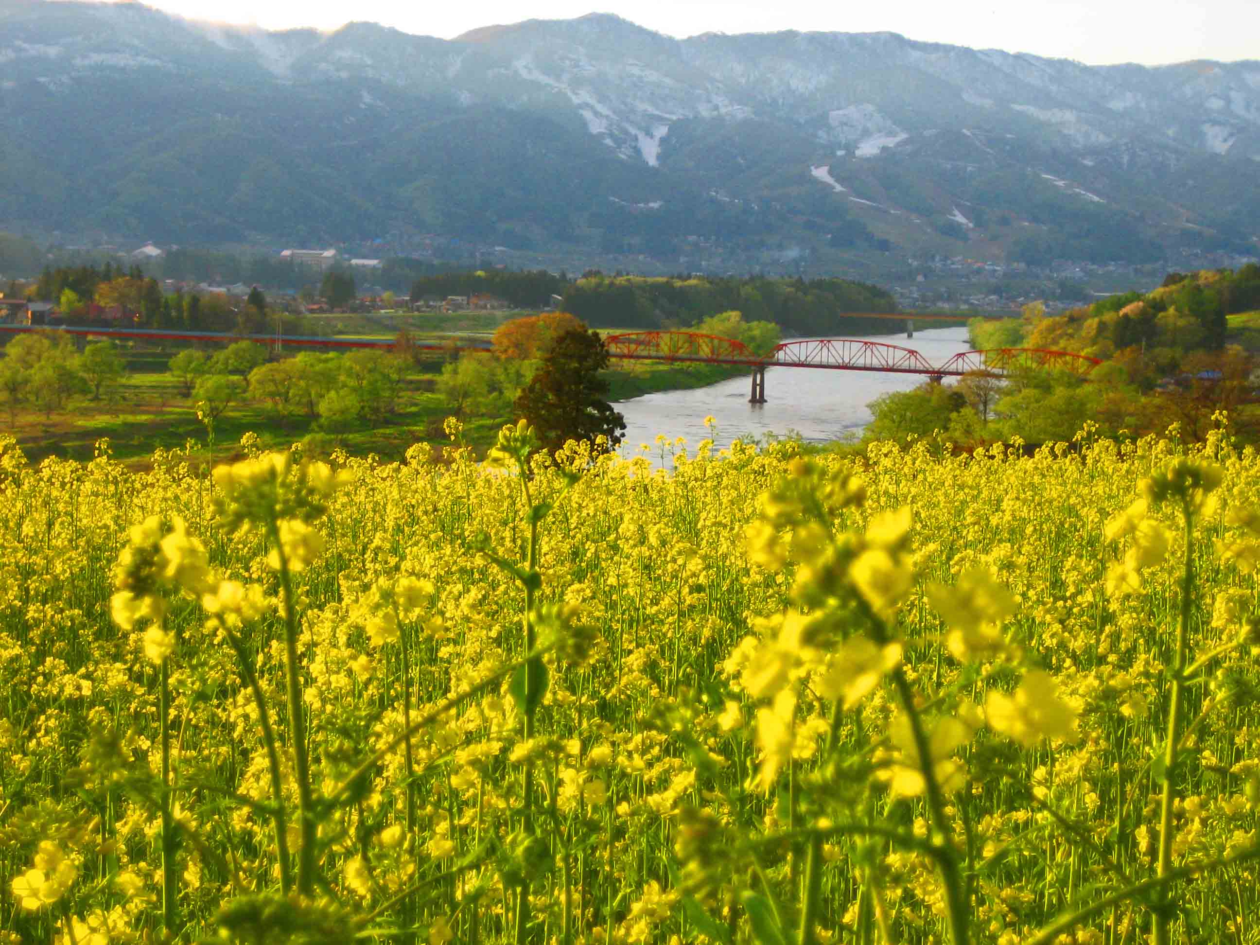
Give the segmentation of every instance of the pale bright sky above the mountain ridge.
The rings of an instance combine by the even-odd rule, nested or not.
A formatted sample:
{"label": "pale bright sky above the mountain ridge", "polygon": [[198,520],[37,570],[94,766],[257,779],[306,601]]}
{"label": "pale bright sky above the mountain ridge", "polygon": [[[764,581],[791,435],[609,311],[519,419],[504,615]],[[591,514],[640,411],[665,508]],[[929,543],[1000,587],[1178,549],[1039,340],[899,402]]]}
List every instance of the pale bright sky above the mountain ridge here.
{"label": "pale bright sky above the mountain ridge", "polygon": [[525,19],[615,13],[673,37],[781,29],[867,33],[1086,63],[1260,58],[1260,0],[150,0],[193,19],[267,29],[372,20],[451,38]]}

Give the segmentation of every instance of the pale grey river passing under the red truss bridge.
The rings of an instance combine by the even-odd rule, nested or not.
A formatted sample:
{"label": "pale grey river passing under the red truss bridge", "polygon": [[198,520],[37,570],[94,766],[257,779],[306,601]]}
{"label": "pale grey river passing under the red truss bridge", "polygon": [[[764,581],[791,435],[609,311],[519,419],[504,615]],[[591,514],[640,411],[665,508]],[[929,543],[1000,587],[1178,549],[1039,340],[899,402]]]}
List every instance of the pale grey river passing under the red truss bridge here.
{"label": "pale grey river passing under the red truss bridge", "polygon": [[[932,364],[970,349],[966,328],[905,331],[864,338],[868,341],[914,348]],[[694,391],[664,391],[612,404],[626,421],[621,455],[634,456],[648,444],[649,456],[659,461],[658,433],[670,440],[687,438],[689,450],[709,436],[704,418],[716,422],[717,449],[732,440],[762,438],[766,435],[796,435],[806,442],[857,438],[871,422],[867,404],[882,393],[908,391],[927,378],[920,374],[885,374],[867,370],[819,368],[770,368],[766,370],[766,403],[748,403],[751,372]]]}

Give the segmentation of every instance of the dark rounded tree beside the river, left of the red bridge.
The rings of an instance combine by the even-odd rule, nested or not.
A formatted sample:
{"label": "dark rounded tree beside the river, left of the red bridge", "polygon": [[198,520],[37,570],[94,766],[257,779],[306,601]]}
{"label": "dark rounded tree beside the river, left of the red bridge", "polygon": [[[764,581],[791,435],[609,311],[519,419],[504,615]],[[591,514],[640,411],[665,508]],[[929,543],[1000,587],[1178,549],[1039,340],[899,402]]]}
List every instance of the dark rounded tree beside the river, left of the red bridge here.
{"label": "dark rounded tree beside the river, left of the red bridge", "polygon": [[597,331],[573,329],[559,335],[543,358],[542,368],[517,397],[517,413],[533,425],[549,451],[570,440],[607,437],[607,449],[621,442],[622,416],[606,399],[609,382],[600,372],[609,352]]}

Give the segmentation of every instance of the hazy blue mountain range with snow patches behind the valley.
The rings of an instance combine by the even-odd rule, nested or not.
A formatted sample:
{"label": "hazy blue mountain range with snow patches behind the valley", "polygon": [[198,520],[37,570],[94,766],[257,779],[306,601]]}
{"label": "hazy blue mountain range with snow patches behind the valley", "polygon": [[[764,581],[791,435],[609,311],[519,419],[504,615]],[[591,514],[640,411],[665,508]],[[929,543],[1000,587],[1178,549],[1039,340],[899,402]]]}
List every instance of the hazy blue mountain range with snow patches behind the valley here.
{"label": "hazy blue mountain range with snow patches behind the valley", "polygon": [[444,40],[0,0],[0,229],[63,239],[693,267],[1260,251],[1260,62],[673,39],[607,14]]}

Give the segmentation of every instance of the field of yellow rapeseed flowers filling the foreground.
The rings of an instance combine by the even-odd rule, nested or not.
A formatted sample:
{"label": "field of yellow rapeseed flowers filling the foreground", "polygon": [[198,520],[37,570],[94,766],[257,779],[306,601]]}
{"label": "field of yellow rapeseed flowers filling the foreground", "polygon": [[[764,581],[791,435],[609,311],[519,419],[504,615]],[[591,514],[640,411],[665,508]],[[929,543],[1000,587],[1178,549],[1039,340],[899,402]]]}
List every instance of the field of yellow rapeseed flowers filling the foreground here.
{"label": "field of yellow rapeseed flowers filling the foreground", "polygon": [[0,941],[1257,942],[1260,456],[0,438]]}

